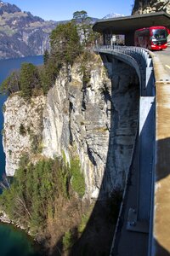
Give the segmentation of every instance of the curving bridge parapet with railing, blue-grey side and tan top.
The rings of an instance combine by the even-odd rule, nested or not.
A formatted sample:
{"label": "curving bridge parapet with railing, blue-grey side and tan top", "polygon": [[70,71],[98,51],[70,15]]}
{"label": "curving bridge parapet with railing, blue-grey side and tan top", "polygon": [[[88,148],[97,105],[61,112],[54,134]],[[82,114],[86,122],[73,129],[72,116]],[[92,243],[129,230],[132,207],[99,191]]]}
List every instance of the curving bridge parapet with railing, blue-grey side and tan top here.
{"label": "curving bridge parapet with railing, blue-grey side and tan top", "polygon": [[[105,55],[105,61],[109,55],[126,62],[138,74],[139,135],[138,150],[133,155],[134,159],[138,154],[138,199],[137,209],[130,208],[125,221],[127,232],[148,234],[146,256],[169,255],[166,253],[170,253],[170,78],[156,55],[147,49],[105,45],[96,46],[94,51]],[[116,235],[111,248],[114,256],[122,255],[114,250]],[[127,255],[136,256],[136,252]]]}

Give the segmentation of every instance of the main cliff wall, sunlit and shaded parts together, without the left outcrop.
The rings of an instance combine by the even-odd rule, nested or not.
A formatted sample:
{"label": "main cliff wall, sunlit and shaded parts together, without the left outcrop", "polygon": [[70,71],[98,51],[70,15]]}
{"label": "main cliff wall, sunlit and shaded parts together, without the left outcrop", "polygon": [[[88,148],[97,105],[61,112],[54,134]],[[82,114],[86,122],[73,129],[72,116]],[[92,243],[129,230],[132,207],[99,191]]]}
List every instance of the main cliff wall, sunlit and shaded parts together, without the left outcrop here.
{"label": "main cliff wall, sunlit and shaded parts together, without the left outcrop", "polygon": [[[44,108],[43,154],[77,152],[85,173],[88,195],[125,184],[131,163],[139,111],[139,81],[133,68],[111,64],[111,80],[96,58],[88,83],[71,69],[62,72],[48,93]],[[89,64],[90,65],[90,64]]]}

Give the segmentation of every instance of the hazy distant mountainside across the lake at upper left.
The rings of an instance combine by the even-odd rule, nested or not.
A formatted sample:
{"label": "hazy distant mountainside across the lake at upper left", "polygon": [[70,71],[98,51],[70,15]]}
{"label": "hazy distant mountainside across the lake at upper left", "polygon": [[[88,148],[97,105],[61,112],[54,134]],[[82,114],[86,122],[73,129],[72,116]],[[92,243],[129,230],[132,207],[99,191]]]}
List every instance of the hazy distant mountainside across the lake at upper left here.
{"label": "hazy distant mountainside across the lake at upper left", "polygon": [[[57,17],[56,17],[57,19]],[[56,21],[45,21],[16,5],[0,2],[0,59],[42,55]]]}

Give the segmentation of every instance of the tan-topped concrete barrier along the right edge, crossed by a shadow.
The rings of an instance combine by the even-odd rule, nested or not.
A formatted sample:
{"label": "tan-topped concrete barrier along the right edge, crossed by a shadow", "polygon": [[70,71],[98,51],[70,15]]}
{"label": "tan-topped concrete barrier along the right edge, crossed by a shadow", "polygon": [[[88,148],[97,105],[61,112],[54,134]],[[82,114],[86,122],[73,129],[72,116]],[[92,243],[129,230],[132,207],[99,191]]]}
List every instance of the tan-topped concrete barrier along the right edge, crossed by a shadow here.
{"label": "tan-topped concrete barrier along the right edge, crossed by a shadow", "polygon": [[[153,56],[156,76],[156,168],[151,254],[170,255],[170,78]],[[169,81],[168,81],[169,79]]]}

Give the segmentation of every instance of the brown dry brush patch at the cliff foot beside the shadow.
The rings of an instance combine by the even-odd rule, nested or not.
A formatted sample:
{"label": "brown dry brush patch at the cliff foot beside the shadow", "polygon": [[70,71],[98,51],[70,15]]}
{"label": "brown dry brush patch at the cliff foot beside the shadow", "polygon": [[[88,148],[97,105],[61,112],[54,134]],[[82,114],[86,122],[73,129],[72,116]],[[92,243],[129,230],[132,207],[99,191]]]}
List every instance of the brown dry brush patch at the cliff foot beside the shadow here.
{"label": "brown dry brush patch at the cliff foot beside the shadow", "polygon": [[[76,197],[70,200],[60,197],[55,201],[54,218],[48,218],[45,230],[46,247],[49,255],[58,255],[62,247],[62,237],[65,232],[74,230],[81,223],[82,215],[90,208],[89,201],[82,201]],[[65,255],[66,252],[61,253]]]}

